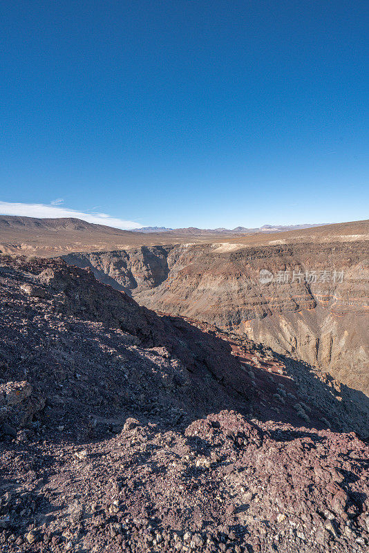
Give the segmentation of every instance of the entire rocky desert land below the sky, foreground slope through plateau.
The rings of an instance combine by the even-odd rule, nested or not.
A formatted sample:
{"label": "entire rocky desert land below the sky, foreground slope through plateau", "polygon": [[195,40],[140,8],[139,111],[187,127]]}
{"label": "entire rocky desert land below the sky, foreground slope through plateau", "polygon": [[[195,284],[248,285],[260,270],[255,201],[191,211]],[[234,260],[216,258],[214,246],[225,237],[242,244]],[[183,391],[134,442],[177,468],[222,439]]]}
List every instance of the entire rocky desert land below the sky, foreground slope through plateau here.
{"label": "entire rocky desert land below the sky, foreground slope through plateau", "polygon": [[0,235],[0,550],[366,551],[368,222],[38,221]]}

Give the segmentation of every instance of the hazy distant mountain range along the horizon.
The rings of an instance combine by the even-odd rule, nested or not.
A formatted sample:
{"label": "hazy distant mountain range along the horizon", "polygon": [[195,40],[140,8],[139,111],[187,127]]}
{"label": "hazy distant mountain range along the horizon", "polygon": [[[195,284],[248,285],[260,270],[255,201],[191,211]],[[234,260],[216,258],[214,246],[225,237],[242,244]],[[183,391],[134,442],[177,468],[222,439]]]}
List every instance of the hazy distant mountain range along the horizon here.
{"label": "hazy distant mountain range along the horizon", "polygon": [[284,232],[286,230],[298,230],[298,229],[308,229],[310,227],[321,227],[326,223],[319,223],[311,225],[310,223],[305,223],[303,225],[263,225],[263,227],[247,228],[247,227],[236,227],[234,229],[226,229],[224,227],[219,227],[216,229],[199,229],[197,227],[187,227],[181,229],[173,229],[169,227],[141,227],[140,229],[135,229],[133,232],[175,232],[176,234],[250,234],[254,232]]}

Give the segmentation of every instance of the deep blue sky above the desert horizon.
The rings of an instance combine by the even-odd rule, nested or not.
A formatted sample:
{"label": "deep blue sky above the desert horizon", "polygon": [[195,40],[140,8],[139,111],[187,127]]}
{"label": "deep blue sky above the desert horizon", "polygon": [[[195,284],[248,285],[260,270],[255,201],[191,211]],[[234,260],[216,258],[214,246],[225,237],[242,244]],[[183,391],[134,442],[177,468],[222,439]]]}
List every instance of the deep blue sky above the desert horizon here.
{"label": "deep blue sky above the desert horizon", "polygon": [[3,0],[0,211],[368,218],[368,29],[368,0]]}

